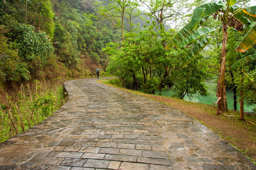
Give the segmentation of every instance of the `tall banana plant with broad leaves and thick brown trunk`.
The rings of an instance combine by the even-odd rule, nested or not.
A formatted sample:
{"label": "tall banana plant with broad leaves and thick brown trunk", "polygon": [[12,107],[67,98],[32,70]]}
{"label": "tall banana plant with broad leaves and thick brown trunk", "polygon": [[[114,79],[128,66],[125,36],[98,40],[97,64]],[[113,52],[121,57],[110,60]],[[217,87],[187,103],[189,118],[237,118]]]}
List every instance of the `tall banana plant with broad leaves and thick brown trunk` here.
{"label": "tall banana plant with broad leaves and thick brown trunk", "polygon": [[[206,3],[194,9],[192,20],[184,26],[174,38],[166,45],[167,49],[182,48],[193,40],[198,39],[203,35],[207,35],[213,31],[214,28],[202,29],[202,24],[210,16],[217,17],[221,20],[222,35],[219,33],[219,38],[222,42],[222,49],[220,55],[219,67],[219,80],[217,85],[217,101],[218,101],[218,114],[221,111],[228,110],[226,99],[226,83],[225,83],[225,67],[226,67],[226,46],[228,42],[229,27],[236,30],[243,30],[245,27],[250,26],[248,36],[239,44],[237,51],[246,51],[256,42],[255,25],[256,21],[256,6],[240,8],[236,4],[236,0],[227,0],[227,3],[219,1],[219,3]],[[205,27],[203,27],[205,28]],[[199,31],[200,30],[200,31]],[[190,62],[195,56],[210,42],[210,38],[206,38],[199,42],[195,48],[188,54],[184,60],[183,65]]]}

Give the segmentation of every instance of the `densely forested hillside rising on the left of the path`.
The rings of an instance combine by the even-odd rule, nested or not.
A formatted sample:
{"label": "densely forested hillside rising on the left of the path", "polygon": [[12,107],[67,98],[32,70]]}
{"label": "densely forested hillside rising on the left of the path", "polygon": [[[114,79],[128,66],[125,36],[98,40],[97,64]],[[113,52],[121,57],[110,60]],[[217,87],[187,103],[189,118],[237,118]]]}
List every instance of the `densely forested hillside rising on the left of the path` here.
{"label": "densely forested hillside rising on the left of the path", "polygon": [[91,18],[95,10],[91,0],[1,0],[1,87],[105,70],[101,49],[121,34],[107,20]]}

